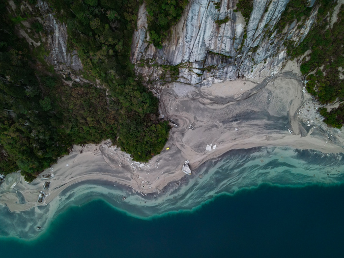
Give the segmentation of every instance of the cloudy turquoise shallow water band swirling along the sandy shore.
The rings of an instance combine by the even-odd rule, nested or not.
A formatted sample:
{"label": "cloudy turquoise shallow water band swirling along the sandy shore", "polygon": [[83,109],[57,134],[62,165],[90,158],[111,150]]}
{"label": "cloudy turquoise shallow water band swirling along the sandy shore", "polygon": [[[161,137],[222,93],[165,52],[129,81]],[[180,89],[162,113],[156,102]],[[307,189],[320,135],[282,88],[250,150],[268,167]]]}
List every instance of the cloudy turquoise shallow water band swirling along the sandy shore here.
{"label": "cloudy turquoise shallow water band swirling along the sandy shore", "polygon": [[[112,216],[124,216],[126,218],[128,217],[128,220],[137,221],[137,223],[143,223],[144,225],[144,223],[147,223],[146,221],[134,218],[143,219],[152,216],[156,217],[157,215],[167,212],[171,215],[180,210],[193,211],[195,207],[223,193],[234,195],[230,200],[236,200],[236,198],[241,196],[241,194],[237,194],[242,192],[239,190],[248,189],[245,191],[250,193],[253,191],[252,193],[255,193],[253,189],[266,183],[276,186],[294,187],[304,187],[314,184],[338,184],[344,182],[343,172],[343,154],[324,154],[319,151],[301,151],[289,147],[262,147],[232,150],[217,160],[205,163],[191,177],[187,177],[186,180],[172,182],[169,187],[167,187],[166,193],[141,196],[137,193],[133,193],[129,188],[123,188],[122,186],[106,182],[83,182],[66,189],[59,197],[49,203],[48,206],[36,207],[21,213],[9,213],[5,207],[0,208],[0,235],[7,238],[14,236],[17,238],[32,239],[39,234],[39,231],[36,230],[37,226],[43,227],[44,230],[42,232],[46,234],[47,232],[55,231],[55,229],[53,230],[55,226],[51,226],[51,224],[62,225],[62,228],[65,229],[63,223],[57,222],[56,220],[58,214],[64,214],[61,216],[65,216],[65,219],[69,217],[69,219],[72,219],[75,216],[73,215],[74,212],[77,213],[79,209],[70,208],[72,205],[80,206],[95,199],[106,200],[110,205],[115,206],[117,210],[121,210],[129,216],[124,216],[123,214],[118,215],[119,213],[115,211],[108,214],[106,210],[109,207],[106,206],[108,208],[100,208],[99,211],[94,211],[93,215],[92,212],[89,215],[87,215],[89,213],[88,211],[85,212],[85,220],[90,218],[88,216],[95,216],[96,214],[101,218],[99,223],[103,223],[103,218],[106,220],[106,218],[111,218]],[[199,175],[201,175],[201,178]],[[302,195],[302,190],[300,189],[295,190],[295,188],[288,188],[287,195],[295,195],[294,193],[300,193]],[[314,191],[316,194],[317,190]],[[274,195],[274,193],[271,193],[271,195]],[[124,201],[122,199],[123,196],[126,197]],[[255,196],[256,194],[251,195],[252,198],[255,198]],[[302,196],[300,196],[300,198],[302,198]],[[228,210],[221,212],[229,213],[236,209],[236,207],[231,207],[230,202],[227,204],[226,198],[218,198],[215,203],[217,203],[218,200],[224,200],[225,206],[228,206]],[[337,201],[338,200],[340,199],[337,199]],[[263,203],[258,203],[258,205],[265,205],[269,202],[269,199],[260,200],[260,202]],[[86,206],[82,206],[81,209],[88,207],[88,205],[95,204],[87,204]],[[96,205],[100,205],[100,207],[104,206],[104,204]],[[209,215],[210,217],[208,219],[203,217],[202,220],[218,220],[219,216],[222,218],[221,212],[218,212],[216,209],[217,208],[215,208],[211,216]],[[277,207],[277,209],[280,208]],[[193,220],[194,215],[199,212],[200,211],[188,213],[188,215],[182,212],[176,216],[191,216],[188,220]],[[254,214],[255,211],[247,210],[246,212]],[[262,210],[261,212],[267,211]],[[271,212],[271,210],[269,210],[269,212]],[[267,215],[267,213],[265,213],[265,215]],[[77,217],[79,216],[80,215],[77,215]],[[164,220],[164,218],[162,220]],[[182,223],[184,219],[180,217],[179,220],[179,223]],[[157,221],[160,221],[160,219]],[[201,223],[201,221],[199,222]],[[94,219],[94,224],[98,224],[96,219]],[[67,225],[69,227],[70,223]],[[88,224],[84,224],[84,228],[85,225],[89,226]],[[157,223],[157,225],[159,225],[159,223]],[[252,227],[253,226],[254,225],[252,225]],[[82,225],[80,225],[80,227],[82,227]],[[99,227],[98,233],[100,234],[103,230],[103,226]],[[151,227],[154,228],[155,226],[152,224]],[[116,229],[114,228],[113,230]],[[89,232],[89,234],[95,233],[95,231],[93,231],[93,233]],[[203,234],[206,234],[206,231],[203,231]],[[38,236],[37,241],[41,241],[40,239],[42,239],[42,237],[43,236]],[[106,237],[106,234],[104,237]],[[207,237],[205,237],[205,239],[207,239]]]}

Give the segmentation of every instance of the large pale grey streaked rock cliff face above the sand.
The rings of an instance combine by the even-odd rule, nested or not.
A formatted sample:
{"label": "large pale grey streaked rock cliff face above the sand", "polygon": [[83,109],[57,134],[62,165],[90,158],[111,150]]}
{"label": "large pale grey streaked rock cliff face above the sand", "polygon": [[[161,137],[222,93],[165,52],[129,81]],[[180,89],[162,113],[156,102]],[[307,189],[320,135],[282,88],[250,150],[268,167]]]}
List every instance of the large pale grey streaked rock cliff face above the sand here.
{"label": "large pale grey streaked rock cliff face above the sand", "polygon": [[[149,44],[147,12],[140,7],[138,29],[134,32],[131,61],[146,80],[163,82],[166,65],[177,66],[179,82],[209,85],[238,77],[261,78],[278,73],[285,64],[284,42],[301,42],[311,29],[318,7],[302,24],[294,21],[282,33],[274,29],[289,0],[254,0],[249,20],[236,9],[236,0],[190,0],[172,36],[162,49]],[[220,9],[215,8],[221,2]],[[229,17],[222,25],[216,23]],[[165,76],[165,77],[164,77]]]}

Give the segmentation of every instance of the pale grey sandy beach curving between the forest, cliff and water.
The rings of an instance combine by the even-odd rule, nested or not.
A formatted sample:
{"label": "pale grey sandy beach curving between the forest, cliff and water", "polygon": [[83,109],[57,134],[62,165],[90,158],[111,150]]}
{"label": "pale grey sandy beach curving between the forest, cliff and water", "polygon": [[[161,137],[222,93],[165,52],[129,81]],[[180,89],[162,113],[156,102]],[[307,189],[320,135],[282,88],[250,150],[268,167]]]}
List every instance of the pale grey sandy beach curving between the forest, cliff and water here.
{"label": "pale grey sandy beach curving between the forest, cliff and water", "polygon": [[[1,185],[0,202],[10,211],[27,210],[48,204],[67,187],[87,180],[111,181],[142,195],[160,193],[169,182],[186,176],[181,171],[185,160],[195,170],[231,149],[286,145],[343,152],[342,131],[327,128],[321,121],[312,126],[302,123],[299,108],[310,96],[302,92],[298,69],[289,61],[284,73],[259,82],[229,81],[204,88],[170,84],[160,93],[160,110],[179,126],[172,128],[161,154],[140,166],[110,141],[74,146],[69,155],[42,173],[55,174],[49,179],[51,186],[45,191],[44,203],[37,203],[38,193],[48,180],[37,178],[28,184],[18,173],[7,176]],[[306,124],[307,119],[302,116]],[[190,124],[194,130],[189,129]],[[216,148],[207,151],[207,144]],[[24,202],[21,195],[25,204],[20,204]]]}

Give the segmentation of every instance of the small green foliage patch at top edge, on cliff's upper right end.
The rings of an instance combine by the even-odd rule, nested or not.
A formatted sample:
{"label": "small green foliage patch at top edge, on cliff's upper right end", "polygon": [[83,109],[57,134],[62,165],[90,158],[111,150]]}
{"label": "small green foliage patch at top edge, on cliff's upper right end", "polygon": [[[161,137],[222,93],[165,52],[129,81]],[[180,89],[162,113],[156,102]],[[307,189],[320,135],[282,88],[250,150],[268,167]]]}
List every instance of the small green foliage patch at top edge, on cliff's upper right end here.
{"label": "small green foliage patch at top edge, on cliff's upper right end", "polygon": [[307,7],[308,3],[309,0],[290,0],[276,25],[278,31],[281,32],[287,24],[290,25],[295,20],[305,20],[312,11],[312,8]]}

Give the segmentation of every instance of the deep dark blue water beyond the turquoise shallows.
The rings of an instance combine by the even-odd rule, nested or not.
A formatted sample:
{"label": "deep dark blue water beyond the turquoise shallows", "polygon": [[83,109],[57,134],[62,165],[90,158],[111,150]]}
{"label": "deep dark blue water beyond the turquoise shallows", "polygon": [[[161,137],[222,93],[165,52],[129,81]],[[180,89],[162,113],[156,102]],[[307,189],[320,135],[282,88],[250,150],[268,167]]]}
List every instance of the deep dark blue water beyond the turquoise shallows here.
{"label": "deep dark blue water beyond the turquoise shallows", "polygon": [[0,257],[343,257],[344,185],[262,185],[150,220],[105,201],[72,206],[35,241]]}

